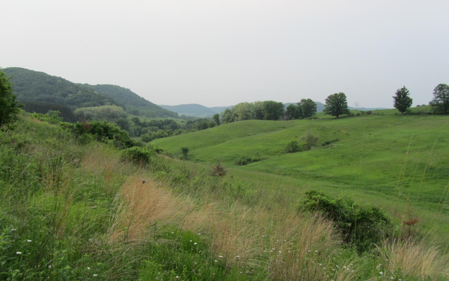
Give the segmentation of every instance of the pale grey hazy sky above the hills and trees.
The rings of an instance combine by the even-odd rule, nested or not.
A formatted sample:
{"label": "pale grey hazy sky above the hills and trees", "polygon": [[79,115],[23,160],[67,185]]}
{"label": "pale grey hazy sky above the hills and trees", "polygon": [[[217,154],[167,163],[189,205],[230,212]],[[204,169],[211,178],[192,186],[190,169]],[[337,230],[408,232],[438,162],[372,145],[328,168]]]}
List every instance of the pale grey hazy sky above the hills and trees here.
{"label": "pale grey hazy sky above the hills and trees", "polygon": [[449,1],[2,1],[0,66],[115,84],[156,104],[414,105],[449,83]]}

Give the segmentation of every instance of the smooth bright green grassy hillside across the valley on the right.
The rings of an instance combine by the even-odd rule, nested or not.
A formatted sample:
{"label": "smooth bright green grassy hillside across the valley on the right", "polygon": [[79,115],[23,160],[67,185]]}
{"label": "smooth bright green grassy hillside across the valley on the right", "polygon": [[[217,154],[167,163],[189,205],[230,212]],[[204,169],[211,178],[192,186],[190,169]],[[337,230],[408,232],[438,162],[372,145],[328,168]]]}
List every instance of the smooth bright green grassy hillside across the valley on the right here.
{"label": "smooth bright green grassy hillside across the valley on the right", "polygon": [[[285,153],[286,144],[305,130],[319,134],[312,151]],[[241,121],[216,128],[154,140],[190,159],[235,165],[241,156],[261,161],[236,169],[273,173],[304,180],[312,186],[393,195],[401,188],[407,198],[437,208],[445,200],[449,170],[449,117],[370,115],[298,121]],[[303,144],[303,143],[300,143]],[[448,212],[447,203],[443,204]]]}

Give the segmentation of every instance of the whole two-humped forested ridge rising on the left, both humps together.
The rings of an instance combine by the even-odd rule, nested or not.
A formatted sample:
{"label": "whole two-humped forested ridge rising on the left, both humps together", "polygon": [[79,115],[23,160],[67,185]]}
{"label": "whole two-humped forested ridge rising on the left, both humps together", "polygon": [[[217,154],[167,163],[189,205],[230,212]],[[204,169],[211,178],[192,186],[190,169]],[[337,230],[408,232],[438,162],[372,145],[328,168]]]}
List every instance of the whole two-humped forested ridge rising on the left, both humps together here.
{"label": "whole two-humped forested ridge rising on the left, both humps together", "polygon": [[161,108],[131,90],[114,85],[77,84],[47,73],[8,67],[3,69],[12,76],[14,93],[24,103],[59,104],[76,108],[117,105],[133,115],[146,117],[177,117],[176,112]]}

